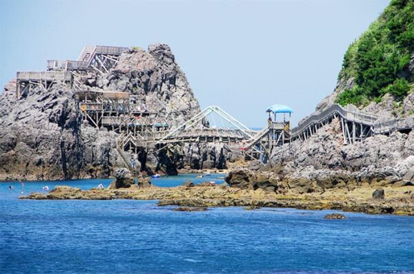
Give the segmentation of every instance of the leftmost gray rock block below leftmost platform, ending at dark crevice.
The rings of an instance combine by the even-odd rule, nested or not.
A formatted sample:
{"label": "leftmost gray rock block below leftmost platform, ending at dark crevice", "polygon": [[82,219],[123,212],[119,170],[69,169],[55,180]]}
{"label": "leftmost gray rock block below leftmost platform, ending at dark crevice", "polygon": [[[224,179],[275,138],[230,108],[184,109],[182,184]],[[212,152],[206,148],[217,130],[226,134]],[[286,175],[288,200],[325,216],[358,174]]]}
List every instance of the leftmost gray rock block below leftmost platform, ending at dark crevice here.
{"label": "leftmost gray rock block below leftmost platform, ending at dark crevice", "polygon": [[[13,98],[14,97],[14,98]],[[82,176],[80,115],[71,90],[56,85],[0,94],[0,178],[59,179]]]}

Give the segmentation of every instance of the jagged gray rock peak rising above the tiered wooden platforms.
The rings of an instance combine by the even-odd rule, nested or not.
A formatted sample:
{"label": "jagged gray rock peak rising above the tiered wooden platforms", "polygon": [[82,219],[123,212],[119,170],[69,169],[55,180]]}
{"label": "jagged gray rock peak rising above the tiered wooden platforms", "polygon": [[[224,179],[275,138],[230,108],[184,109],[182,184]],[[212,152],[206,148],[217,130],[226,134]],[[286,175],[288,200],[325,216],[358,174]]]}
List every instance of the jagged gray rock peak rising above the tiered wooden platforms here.
{"label": "jagged gray rock peak rising above the tiered wooden platforms", "polygon": [[166,118],[170,127],[200,111],[186,75],[164,44],[149,45],[148,52],[129,50],[110,74],[90,75],[83,83],[86,88],[129,92],[133,102]]}

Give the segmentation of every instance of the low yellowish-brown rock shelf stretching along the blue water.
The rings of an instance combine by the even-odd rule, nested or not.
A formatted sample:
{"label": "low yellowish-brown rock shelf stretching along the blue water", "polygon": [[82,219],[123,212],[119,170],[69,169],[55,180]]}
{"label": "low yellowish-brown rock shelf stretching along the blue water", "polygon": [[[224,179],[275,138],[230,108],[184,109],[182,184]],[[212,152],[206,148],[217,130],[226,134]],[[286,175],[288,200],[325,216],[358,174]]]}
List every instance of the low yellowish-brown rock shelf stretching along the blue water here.
{"label": "low yellowish-brown rock shelf stretching along the blue water", "polygon": [[279,194],[264,189],[239,189],[224,185],[194,187],[139,187],[122,189],[90,189],[59,186],[49,193],[30,193],[21,199],[32,200],[158,200],[159,206],[176,205],[188,208],[208,207],[290,207],[295,209],[337,209],[371,214],[414,215],[411,187],[385,187],[385,197],[373,198],[375,189],[359,187],[348,191],[337,189],[324,193]]}

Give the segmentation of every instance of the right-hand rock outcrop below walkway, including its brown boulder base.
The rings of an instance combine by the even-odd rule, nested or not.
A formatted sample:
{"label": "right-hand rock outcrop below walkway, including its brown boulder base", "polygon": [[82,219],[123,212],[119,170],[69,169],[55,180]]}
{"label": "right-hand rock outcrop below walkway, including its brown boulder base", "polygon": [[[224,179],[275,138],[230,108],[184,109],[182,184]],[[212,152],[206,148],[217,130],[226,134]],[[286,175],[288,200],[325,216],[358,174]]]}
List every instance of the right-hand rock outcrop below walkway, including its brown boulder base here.
{"label": "right-hand rock outcrop below walkway, including its brown boulder base", "polygon": [[[255,170],[255,171],[253,171]],[[299,193],[336,187],[411,185],[414,170],[414,132],[377,135],[364,142],[344,144],[339,121],[325,125],[304,142],[273,149],[266,166],[230,171],[226,182],[239,188],[269,186]]]}

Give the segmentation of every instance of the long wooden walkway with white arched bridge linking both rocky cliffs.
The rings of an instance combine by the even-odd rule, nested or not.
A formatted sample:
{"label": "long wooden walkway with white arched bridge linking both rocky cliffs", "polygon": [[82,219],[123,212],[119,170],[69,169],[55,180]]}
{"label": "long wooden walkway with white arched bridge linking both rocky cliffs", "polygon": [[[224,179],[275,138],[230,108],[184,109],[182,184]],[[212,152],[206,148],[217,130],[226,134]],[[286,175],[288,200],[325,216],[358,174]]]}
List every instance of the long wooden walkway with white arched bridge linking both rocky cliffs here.
{"label": "long wooden walkway with white arched bridge linking both rocky cliffs", "polygon": [[[228,143],[239,147],[246,158],[266,163],[274,147],[294,140],[307,140],[321,127],[339,119],[344,143],[362,141],[374,134],[410,131],[414,117],[379,122],[377,116],[359,111],[353,105],[332,105],[324,112],[306,118],[290,129],[290,122],[268,120],[261,131],[249,129],[223,109],[210,106],[185,123],[170,129],[157,114],[143,112],[129,103],[126,92],[77,91],[79,107],[86,120],[95,127],[107,127],[119,133],[117,145],[123,151],[160,151],[182,147],[186,143]],[[137,110],[139,109],[139,110]],[[208,115],[218,114],[233,128],[205,126]],[[276,118],[276,116],[275,116]]]}

